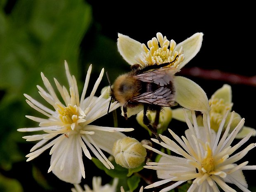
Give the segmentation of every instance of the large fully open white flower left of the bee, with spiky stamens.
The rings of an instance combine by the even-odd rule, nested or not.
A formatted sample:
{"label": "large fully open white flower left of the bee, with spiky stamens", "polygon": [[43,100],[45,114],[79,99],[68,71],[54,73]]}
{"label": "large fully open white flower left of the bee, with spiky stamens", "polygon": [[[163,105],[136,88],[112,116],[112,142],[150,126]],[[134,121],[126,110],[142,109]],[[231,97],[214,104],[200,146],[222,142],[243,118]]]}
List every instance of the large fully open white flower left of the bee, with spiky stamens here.
{"label": "large fully open white flower left of the bee, with spiky stamens", "polygon": [[[100,95],[100,97],[94,96],[104,74],[104,69],[102,69],[99,78],[95,82],[90,96],[85,98],[92,69],[92,65],[90,65],[80,99],[76,78],[71,76],[66,61],[65,69],[69,89],[61,86],[54,78],[59,91],[58,94],[61,95],[64,103],[62,100],[59,100],[54,88],[43,73],[41,73],[47,91],[38,85],[39,94],[48,104],[52,105],[53,109],[46,107],[29,95],[24,94],[27,98],[26,102],[47,118],[26,116],[28,119],[39,122],[39,126],[35,128],[20,128],[18,131],[44,132],[43,134],[40,132],[37,135],[23,137],[27,141],[40,140],[31,148],[31,153],[26,155],[28,157],[27,161],[31,161],[51,147],[50,155],[52,156],[48,173],[52,171],[59,179],[69,183],[80,183],[81,177],[83,176],[85,178],[85,168],[82,160],[83,153],[91,159],[89,148],[104,166],[114,169],[114,166],[103,154],[102,150],[112,154],[114,142],[126,137],[126,135],[119,131],[131,131],[133,129],[102,127],[91,124],[96,119],[106,115],[109,106],[110,98],[103,98],[105,93]],[[114,102],[111,104],[109,111],[113,111],[118,107],[119,104]]]}

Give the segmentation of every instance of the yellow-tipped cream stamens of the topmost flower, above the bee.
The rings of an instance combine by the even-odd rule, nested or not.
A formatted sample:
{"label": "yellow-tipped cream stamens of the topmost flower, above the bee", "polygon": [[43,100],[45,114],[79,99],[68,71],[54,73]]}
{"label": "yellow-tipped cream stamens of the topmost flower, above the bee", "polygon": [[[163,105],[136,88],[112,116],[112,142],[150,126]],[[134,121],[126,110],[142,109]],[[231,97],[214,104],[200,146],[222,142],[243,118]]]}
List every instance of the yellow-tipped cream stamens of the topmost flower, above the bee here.
{"label": "yellow-tipped cream stamens of the topmost flower, above the bee", "polygon": [[[140,64],[163,64],[172,62],[170,67],[177,68],[180,62],[183,62],[185,56],[183,55],[183,49],[175,50],[176,43],[174,40],[167,40],[166,36],[161,33],[156,34],[156,38],[152,38],[147,42],[147,46],[142,44],[142,52],[137,58],[137,62]],[[178,59],[175,60],[176,56]],[[173,62],[175,61],[175,62]]]}

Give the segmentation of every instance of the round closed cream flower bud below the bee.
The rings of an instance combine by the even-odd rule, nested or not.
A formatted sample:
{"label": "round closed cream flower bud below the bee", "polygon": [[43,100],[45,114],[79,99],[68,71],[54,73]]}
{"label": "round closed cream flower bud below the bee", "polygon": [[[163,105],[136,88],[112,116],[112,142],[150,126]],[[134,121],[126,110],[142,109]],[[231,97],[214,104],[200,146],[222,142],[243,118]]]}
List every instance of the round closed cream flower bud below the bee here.
{"label": "round closed cream flower bud below the bee", "polygon": [[136,168],[145,161],[146,149],[131,137],[117,140],[113,146],[113,155],[117,164],[124,168]]}

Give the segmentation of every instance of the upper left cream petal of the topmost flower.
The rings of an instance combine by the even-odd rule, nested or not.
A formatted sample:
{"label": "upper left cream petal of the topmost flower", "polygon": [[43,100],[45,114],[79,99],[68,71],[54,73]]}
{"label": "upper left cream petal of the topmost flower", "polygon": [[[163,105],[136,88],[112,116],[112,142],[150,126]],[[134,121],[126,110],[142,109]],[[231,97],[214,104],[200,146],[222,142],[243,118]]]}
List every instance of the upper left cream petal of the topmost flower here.
{"label": "upper left cream petal of the topmost flower", "polygon": [[133,65],[137,63],[135,56],[142,52],[141,45],[142,44],[140,42],[118,33],[117,48],[123,59],[126,60],[128,64]]}

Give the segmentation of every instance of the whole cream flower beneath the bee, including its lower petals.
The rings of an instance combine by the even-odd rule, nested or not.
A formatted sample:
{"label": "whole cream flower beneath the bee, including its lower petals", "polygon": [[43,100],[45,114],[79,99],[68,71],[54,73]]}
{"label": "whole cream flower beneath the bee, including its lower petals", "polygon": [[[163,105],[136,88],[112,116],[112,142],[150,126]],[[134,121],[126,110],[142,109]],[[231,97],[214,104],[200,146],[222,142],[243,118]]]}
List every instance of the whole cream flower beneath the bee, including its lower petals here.
{"label": "whole cream flower beneath the bee, including its lower petals", "polygon": [[[128,64],[140,64],[142,67],[152,64],[168,65],[180,71],[199,52],[203,40],[203,33],[195,33],[190,38],[176,45],[174,40],[167,40],[166,36],[156,33],[156,38],[147,42],[147,46],[128,36],[118,34],[117,47]],[[182,76],[173,77],[175,100],[182,107],[194,111],[208,113],[210,110],[208,98],[204,90],[194,81]],[[142,109],[128,108],[127,116],[137,114]]]}

